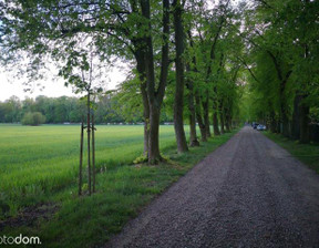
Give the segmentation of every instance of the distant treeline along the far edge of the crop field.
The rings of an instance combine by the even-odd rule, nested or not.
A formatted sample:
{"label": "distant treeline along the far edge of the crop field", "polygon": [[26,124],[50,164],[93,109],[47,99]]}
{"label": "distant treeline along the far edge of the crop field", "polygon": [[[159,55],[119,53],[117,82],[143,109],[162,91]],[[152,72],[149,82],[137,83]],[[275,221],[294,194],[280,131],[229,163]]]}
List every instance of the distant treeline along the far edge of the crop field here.
{"label": "distant treeline along the far edge of the crop field", "polygon": [[[94,118],[95,123],[137,123],[143,122],[142,113],[132,110],[130,113],[123,111],[123,106],[112,95],[100,96],[95,101]],[[33,99],[20,100],[11,96],[4,102],[0,102],[0,123],[20,123],[28,113],[40,112],[45,116],[45,123],[80,123],[86,114],[85,101],[79,97],[48,97],[40,95]],[[165,114],[163,122],[169,122]]]}

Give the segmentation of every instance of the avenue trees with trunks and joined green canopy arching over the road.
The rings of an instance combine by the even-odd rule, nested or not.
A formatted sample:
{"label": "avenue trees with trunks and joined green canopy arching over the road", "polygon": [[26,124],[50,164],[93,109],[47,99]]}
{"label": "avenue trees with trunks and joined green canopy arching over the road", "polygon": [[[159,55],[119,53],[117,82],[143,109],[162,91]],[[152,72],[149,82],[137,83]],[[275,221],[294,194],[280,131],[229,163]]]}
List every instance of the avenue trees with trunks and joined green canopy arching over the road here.
{"label": "avenue trees with trunks and joined green canopy arching over the road", "polygon": [[103,85],[113,59],[130,63],[127,80],[97,102],[112,103],[107,115],[121,110],[123,120],[143,121],[150,164],[163,159],[164,118],[174,121],[179,153],[187,151],[185,123],[192,146],[199,144],[196,123],[202,142],[212,124],[220,135],[258,121],[301,142],[317,128],[318,1],[6,0],[0,7],[0,61],[7,68],[28,61],[30,80],[53,61],[82,92],[93,68]]}

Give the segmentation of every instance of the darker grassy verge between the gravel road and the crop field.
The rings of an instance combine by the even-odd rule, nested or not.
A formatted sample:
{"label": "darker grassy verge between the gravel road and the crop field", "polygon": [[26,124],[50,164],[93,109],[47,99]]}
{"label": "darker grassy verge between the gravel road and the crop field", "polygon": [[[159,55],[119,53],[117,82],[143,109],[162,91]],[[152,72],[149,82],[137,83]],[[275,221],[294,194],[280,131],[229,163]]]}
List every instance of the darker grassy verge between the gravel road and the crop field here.
{"label": "darker grassy verge between the gravel road and the crop field", "polygon": [[96,247],[119,232],[156,195],[185,175],[208,153],[226,143],[236,132],[210,138],[183,155],[176,147],[164,149],[169,163],[161,166],[122,165],[97,175],[97,193],[76,197],[76,186],[52,196],[59,210],[50,219],[32,225],[6,227],[6,236],[38,236],[44,247]]}

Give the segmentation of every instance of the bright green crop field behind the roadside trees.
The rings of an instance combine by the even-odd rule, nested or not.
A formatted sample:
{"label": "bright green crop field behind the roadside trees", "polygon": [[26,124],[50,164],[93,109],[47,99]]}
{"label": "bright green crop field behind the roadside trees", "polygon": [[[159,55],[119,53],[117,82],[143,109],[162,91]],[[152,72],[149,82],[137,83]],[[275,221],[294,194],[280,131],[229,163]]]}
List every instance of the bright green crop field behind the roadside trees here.
{"label": "bright green crop field behind the roadside trees", "polygon": [[[142,125],[96,127],[97,170],[132,164],[142,155]],[[161,126],[161,147],[172,146],[173,126]],[[11,211],[75,184],[79,151],[79,125],[0,125],[0,189]]]}

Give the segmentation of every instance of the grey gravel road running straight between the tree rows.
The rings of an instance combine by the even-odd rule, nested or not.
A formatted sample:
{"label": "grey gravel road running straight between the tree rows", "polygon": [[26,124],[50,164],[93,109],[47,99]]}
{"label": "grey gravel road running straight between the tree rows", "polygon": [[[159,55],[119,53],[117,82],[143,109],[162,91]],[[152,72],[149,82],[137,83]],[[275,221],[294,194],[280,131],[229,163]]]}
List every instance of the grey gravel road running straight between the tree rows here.
{"label": "grey gravel road running straight between the tree rows", "polygon": [[246,126],[106,247],[319,247],[319,176]]}

